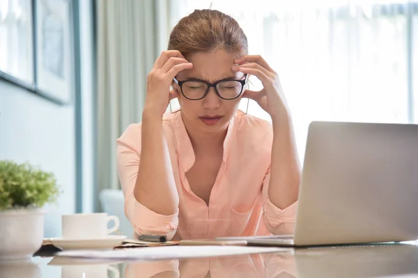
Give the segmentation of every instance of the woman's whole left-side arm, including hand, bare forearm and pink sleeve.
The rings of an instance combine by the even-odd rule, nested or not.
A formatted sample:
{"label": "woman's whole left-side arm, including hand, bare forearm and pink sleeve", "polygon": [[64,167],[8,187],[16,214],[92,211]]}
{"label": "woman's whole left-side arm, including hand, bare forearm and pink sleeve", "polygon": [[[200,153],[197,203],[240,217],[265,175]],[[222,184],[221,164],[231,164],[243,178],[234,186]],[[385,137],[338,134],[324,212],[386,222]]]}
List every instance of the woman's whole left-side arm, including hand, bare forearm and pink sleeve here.
{"label": "woman's whole left-side arm, including hand, bare forearm and pink sleeve", "polygon": [[178,193],[162,115],[170,99],[178,97],[176,90],[169,90],[173,77],[192,66],[179,51],[163,51],[148,74],[141,133],[130,133],[128,128],[118,139],[125,214],[138,234],[166,234],[171,238],[176,233]]}

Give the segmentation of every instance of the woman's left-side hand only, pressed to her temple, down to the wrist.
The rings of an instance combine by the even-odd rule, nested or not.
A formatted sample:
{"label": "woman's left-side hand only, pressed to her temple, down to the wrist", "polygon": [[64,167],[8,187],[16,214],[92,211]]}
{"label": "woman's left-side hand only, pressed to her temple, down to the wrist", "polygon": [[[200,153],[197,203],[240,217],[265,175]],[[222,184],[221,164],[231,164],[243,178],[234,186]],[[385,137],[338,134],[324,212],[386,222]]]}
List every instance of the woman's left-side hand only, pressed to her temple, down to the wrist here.
{"label": "woman's left-side hand only, pressed to her temple, down to the wrist", "polygon": [[192,67],[192,63],[187,62],[180,51],[162,51],[160,57],[155,60],[153,69],[148,74],[144,112],[162,117],[169,101],[178,97],[177,90],[170,91],[169,89],[173,77],[182,70]]}

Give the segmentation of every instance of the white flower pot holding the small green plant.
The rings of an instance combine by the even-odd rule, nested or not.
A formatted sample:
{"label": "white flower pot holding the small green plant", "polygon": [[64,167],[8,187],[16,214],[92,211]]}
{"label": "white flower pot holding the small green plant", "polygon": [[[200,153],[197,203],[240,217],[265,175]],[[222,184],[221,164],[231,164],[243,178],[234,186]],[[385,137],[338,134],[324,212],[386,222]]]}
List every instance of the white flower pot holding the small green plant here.
{"label": "white flower pot holding the small green plant", "polygon": [[44,211],[0,211],[0,260],[30,259],[42,245]]}

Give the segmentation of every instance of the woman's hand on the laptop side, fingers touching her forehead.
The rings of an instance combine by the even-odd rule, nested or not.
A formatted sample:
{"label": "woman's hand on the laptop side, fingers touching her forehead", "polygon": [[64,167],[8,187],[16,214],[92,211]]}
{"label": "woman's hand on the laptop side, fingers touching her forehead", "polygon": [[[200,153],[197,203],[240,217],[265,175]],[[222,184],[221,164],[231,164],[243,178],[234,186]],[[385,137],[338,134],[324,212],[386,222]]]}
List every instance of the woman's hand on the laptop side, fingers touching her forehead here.
{"label": "woman's hand on the laptop side, fingers touching her forehead", "polygon": [[272,120],[288,117],[288,105],[281,88],[279,75],[272,70],[268,63],[259,55],[247,55],[235,59],[237,66],[233,66],[235,72],[255,75],[263,83],[263,89],[256,92],[245,90],[243,97],[254,99],[265,112],[269,113]]}

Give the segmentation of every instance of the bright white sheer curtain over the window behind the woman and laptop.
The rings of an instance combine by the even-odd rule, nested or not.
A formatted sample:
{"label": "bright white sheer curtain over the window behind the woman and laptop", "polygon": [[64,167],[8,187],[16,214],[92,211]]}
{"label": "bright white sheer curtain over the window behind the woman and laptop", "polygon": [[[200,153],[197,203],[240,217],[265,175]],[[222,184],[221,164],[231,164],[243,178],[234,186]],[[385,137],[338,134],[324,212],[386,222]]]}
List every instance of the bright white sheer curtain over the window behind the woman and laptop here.
{"label": "bright white sheer curtain over the window behind the woman and laptop", "polygon": [[[213,9],[238,20],[250,54],[279,73],[300,157],[313,120],[415,122],[417,3],[398,0],[178,0],[180,16]],[[415,8],[414,8],[415,7]],[[408,17],[410,15],[410,17]],[[410,51],[408,51],[408,47]],[[259,83],[256,87],[259,87]],[[269,119],[250,102],[249,113]]]}

